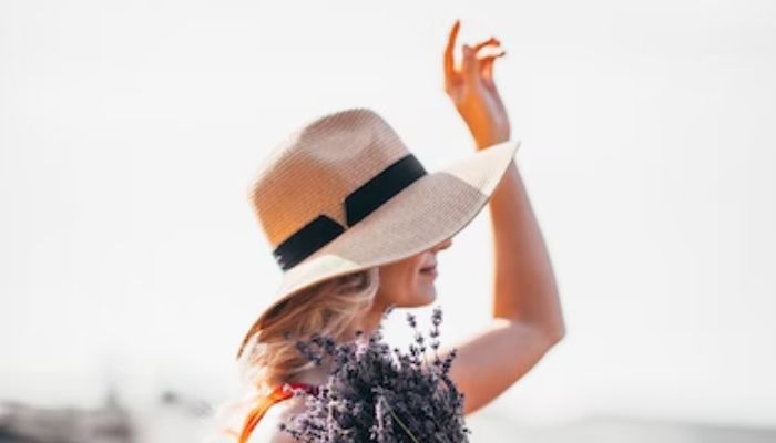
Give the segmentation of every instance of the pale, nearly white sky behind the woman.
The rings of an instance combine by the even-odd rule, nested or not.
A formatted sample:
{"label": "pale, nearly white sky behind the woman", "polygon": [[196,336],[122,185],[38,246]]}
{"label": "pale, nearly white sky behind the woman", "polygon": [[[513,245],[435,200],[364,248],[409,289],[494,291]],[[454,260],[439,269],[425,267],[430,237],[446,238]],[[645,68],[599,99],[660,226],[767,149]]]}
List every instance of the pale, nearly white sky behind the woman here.
{"label": "pale, nearly white sky behind the woman", "polygon": [[[217,401],[280,279],[245,192],[298,124],[378,111],[473,153],[442,51],[496,81],[568,334],[488,411],[776,424],[776,4],[3,1],[0,399]],[[482,212],[439,255],[441,340],[486,327]],[[416,310],[429,324],[431,307]],[[388,337],[409,340],[404,311]]]}

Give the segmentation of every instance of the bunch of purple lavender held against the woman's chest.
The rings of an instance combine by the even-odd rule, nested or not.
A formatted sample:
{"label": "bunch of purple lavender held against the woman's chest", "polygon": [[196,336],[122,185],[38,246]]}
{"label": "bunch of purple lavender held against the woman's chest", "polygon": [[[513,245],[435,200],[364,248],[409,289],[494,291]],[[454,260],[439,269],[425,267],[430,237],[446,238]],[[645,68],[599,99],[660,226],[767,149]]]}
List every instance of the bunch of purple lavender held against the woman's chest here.
{"label": "bunch of purple lavender held against the woman's chest", "polygon": [[[389,306],[382,318],[392,310]],[[368,343],[356,340],[337,344],[319,334],[297,341],[297,349],[318,365],[330,356],[333,369],[328,383],[316,394],[294,391],[294,395],[306,398],[306,410],[280,423],[280,430],[303,443],[468,443],[471,430],[463,420],[464,395],[448,377],[456,349],[445,360],[439,359],[440,308],[433,309],[431,320],[435,360],[430,364],[426,339],[411,313],[407,313],[407,321],[416,334],[409,353],[398,348],[391,353],[382,341],[381,323]],[[357,338],[361,334],[356,332]]]}

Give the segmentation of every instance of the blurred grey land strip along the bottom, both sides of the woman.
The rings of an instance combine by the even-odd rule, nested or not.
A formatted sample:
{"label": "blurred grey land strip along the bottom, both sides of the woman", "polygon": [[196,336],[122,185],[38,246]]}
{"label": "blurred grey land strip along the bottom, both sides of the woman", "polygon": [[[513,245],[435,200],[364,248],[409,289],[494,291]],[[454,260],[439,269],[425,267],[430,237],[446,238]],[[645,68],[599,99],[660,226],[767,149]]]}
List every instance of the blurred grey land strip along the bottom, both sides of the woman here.
{"label": "blurred grey land strip along the bottom, both sides of the woman", "polygon": [[[226,441],[213,427],[213,408],[185,394],[165,391],[157,402],[139,408],[123,404],[111,391],[100,408],[41,409],[0,401],[0,437],[47,443]],[[592,414],[563,423],[515,421],[493,409],[466,418],[471,441],[525,443],[629,441],[631,443],[760,443],[776,439],[776,426],[735,426],[681,420],[655,420],[619,414]]]}

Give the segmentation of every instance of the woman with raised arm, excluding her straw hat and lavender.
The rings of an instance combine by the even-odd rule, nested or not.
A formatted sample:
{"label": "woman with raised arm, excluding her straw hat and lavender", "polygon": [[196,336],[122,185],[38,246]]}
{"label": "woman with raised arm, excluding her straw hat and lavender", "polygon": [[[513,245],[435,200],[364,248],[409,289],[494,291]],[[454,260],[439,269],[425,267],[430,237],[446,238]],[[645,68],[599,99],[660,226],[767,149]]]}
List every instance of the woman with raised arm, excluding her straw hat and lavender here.
{"label": "woman with raised arm, excluding her straw hat and lavender", "polygon": [[[478,153],[501,148],[494,146],[510,138],[510,125],[493,83],[492,65],[504,52],[480,54],[481,50],[500,44],[493,38],[471,48],[464,44],[461,66],[456,69],[453,48],[459,27],[456,21],[445,50],[445,91],[467,123]],[[450,369],[450,378],[466,395],[466,414],[510,388],[564,334],[550,259],[511,155],[498,178],[492,195],[491,190],[480,189],[489,195],[493,228],[493,319],[476,337],[456,343],[457,358]],[[450,233],[462,228],[473,214],[468,213],[466,220],[459,219]],[[309,363],[296,350],[293,339],[316,332],[340,341],[353,340],[356,330],[366,331],[361,336],[366,339],[387,306],[429,305],[436,297],[437,254],[451,245],[452,236],[445,237],[399,260],[309,285],[267,309],[241,348],[241,353],[249,350],[242,353],[242,362],[256,392],[246,401],[249,410],[239,410],[243,415],[233,437],[241,443],[294,442],[277,425],[302,411],[304,402],[280,388],[289,383],[314,391],[326,382],[330,362],[321,367]],[[441,350],[440,357],[447,352]]]}

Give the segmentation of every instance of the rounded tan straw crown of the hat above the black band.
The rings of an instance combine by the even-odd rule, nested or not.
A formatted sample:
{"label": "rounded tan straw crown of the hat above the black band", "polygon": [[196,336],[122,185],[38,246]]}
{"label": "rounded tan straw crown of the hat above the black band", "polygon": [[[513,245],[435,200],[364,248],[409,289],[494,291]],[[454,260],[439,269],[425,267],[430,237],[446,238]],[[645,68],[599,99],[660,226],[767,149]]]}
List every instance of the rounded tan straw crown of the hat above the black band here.
{"label": "rounded tan straw crown of the hat above the black band", "polygon": [[315,119],[265,158],[251,203],[276,248],[319,215],[347,226],[345,198],[409,150],[375,111],[356,107]]}

